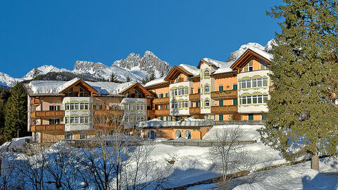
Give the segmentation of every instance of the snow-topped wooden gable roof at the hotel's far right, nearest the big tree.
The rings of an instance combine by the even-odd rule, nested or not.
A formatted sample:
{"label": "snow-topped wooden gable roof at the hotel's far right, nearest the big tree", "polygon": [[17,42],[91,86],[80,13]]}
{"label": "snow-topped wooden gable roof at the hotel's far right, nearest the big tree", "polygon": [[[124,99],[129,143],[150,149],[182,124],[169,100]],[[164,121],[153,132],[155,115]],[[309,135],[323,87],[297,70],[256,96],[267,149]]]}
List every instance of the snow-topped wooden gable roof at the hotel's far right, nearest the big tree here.
{"label": "snow-topped wooden gable roof at the hotel's far right, nearest the big tree", "polygon": [[237,58],[237,60],[234,61],[234,64],[232,64],[230,68],[232,68],[233,70],[243,68],[246,65],[246,63],[248,63],[249,61],[251,61],[251,59],[255,57],[265,61],[265,63],[267,63],[268,65],[270,65],[270,61],[273,59],[273,55],[268,52],[265,52],[261,49],[250,48],[247,49],[242,54],[242,56]]}

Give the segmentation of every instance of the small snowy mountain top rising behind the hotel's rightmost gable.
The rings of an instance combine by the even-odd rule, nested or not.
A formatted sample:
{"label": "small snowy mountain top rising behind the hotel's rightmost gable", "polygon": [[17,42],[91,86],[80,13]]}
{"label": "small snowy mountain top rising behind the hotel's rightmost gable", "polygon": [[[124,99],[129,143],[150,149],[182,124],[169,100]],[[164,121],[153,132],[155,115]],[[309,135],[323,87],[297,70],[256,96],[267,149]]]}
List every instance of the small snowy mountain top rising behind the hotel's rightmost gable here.
{"label": "small snowy mountain top rising behind the hotel's rightmost gable", "polygon": [[239,58],[240,56],[242,56],[242,54],[249,48],[253,48],[253,49],[260,49],[262,51],[267,51],[267,52],[271,52],[272,48],[273,48],[273,44],[275,44],[275,39],[271,39],[266,46],[262,46],[261,44],[258,43],[248,43],[248,44],[244,44],[241,47],[239,47],[239,49],[237,51],[234,51],[232,53],[230,53],[229,58],[227,58],[227,62],[229,61],[236,61],[237,58]]}

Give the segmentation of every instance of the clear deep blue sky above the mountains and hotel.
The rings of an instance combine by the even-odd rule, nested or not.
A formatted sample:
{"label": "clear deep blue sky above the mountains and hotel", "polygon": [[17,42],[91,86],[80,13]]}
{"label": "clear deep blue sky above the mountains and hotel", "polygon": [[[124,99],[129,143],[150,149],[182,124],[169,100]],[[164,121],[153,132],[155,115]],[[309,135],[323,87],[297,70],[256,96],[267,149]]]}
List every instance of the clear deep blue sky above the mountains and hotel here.
{"label": "clear deep blue sky above the mountains and hotel", "polygon": [[242,1],[1,1],[0,72],[23,77],[51,64],[110,66],[129,53],[152,51],[170,65],[226,61],[249,42],[279,31],[265,11],[277,0]]}

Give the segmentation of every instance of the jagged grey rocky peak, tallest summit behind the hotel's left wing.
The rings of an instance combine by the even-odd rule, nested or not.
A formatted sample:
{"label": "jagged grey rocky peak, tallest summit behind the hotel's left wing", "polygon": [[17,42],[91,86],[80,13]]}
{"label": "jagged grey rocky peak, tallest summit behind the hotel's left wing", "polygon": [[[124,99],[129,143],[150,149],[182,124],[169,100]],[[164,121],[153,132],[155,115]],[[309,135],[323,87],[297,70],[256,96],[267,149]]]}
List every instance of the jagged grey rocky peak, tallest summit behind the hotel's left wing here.
{"label": "jagged grey rocky peak, tallest summit behind the hotel's left wing", "polygon": [[167,74],[173,68],[169,63],[161,61],[151,51],[146,51],[144,56],[130,53],[127,58],[115,61],[112,66],[114,65],[130,70],[135,75],[142,76],[142,78],[150,75],[152,70],[155,71],[156,77],[160,77],[161,72]]}

